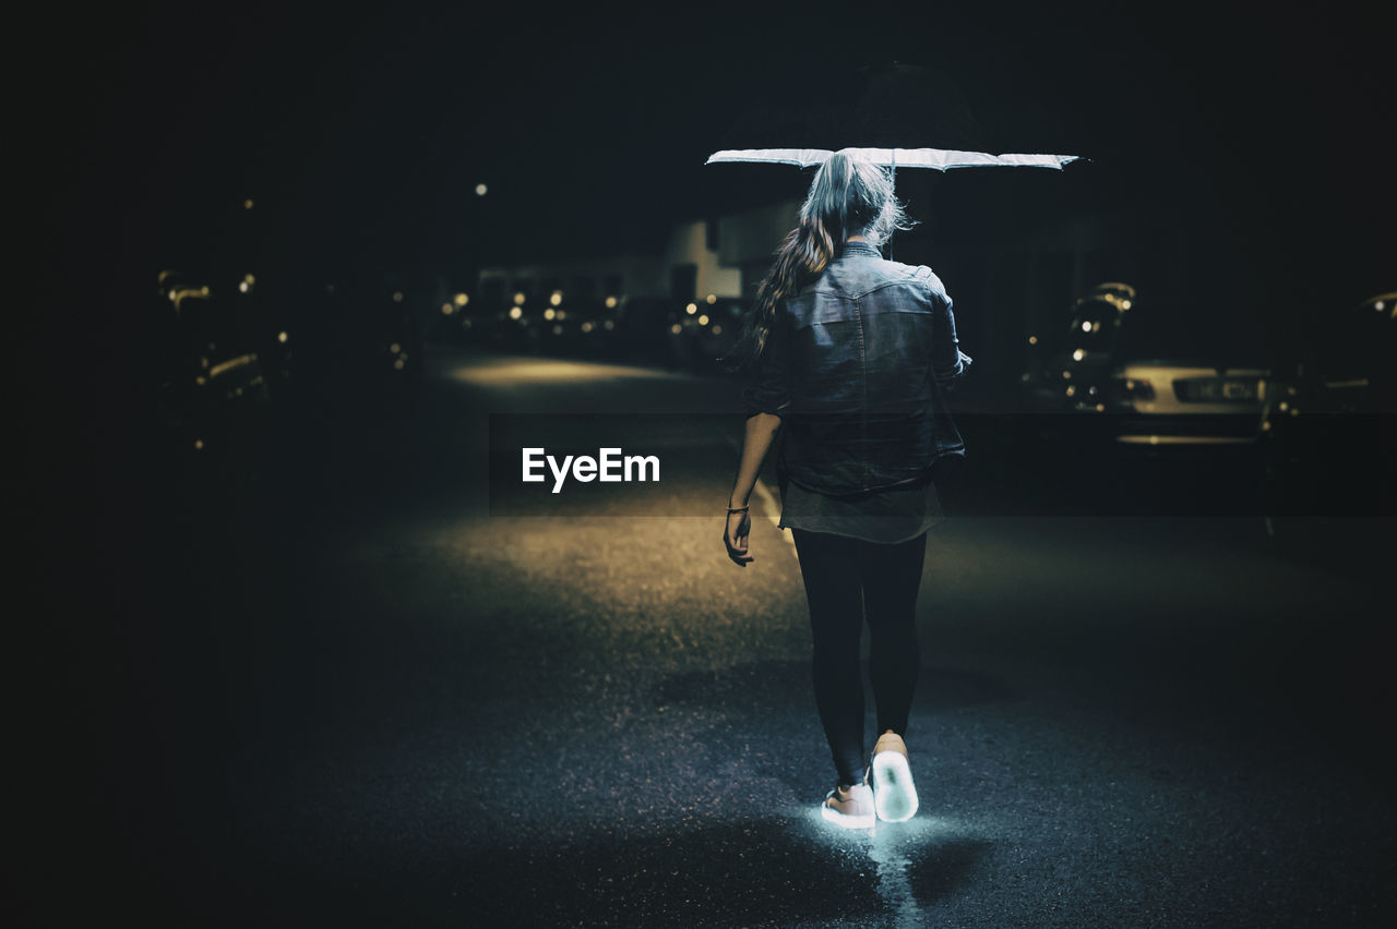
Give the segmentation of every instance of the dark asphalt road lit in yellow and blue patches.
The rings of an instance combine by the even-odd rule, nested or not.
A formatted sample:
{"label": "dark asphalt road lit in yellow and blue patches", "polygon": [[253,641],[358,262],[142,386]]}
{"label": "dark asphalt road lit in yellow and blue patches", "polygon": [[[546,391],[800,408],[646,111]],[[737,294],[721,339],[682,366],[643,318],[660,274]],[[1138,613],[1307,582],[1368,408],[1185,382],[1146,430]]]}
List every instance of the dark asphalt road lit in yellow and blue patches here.
{"label": "dark asphalt road lit in yellow and blue patches", "polygon": [[[251,490],[156,467],[89,516],[105,566],[54,591],[24,703],[32,923],[1397,921],[1376,522],[1296,554],[1252,518],[972,501],[928,544],[921,812],[841,833],[789,534],[759,519],[746,569],[719,541],[735,385],[429,364]],[[492,494],[490,414],[531,413],[665,478]]]}

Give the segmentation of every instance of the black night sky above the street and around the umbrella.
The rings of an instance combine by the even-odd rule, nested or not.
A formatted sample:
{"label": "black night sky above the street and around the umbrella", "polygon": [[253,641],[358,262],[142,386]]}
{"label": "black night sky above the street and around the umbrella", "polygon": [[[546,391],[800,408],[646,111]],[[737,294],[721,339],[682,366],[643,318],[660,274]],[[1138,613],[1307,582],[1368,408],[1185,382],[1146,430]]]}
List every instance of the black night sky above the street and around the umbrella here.
{"label": "black night sky above the street and around the umbrella", "polygon": [[1278,269],[1372,265],[1373,234],[1390,236],[1375,219],[1393,190],[1377,13],[490,6],[31,14],[18,107],[50,181],[29,190],[49,237],[161,264],[250,195],[275,218],[267,246],[305,264],[451,271],[472,236],[496,259],[643,243],[672,219],[799,195],[799,172],[703,160],[752,100],[788,86],[817,100],[893,60],[1010,100],[1051,130],[1039,151],[1097,159],[1087,194],[1182,199],[1199,229],[1294,250]]}

